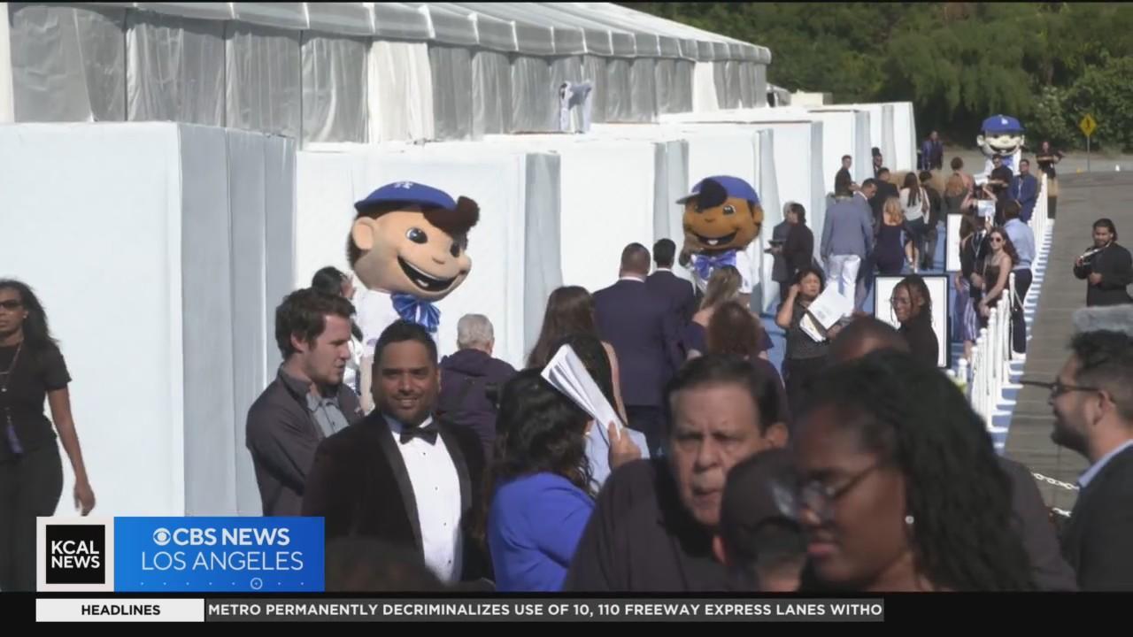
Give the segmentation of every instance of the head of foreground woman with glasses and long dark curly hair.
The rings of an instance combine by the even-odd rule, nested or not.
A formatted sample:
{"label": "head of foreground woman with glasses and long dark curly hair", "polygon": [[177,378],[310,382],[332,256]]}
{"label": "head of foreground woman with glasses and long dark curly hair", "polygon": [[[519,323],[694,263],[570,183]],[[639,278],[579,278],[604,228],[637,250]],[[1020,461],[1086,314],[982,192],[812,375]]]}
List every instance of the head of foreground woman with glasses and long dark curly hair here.
{"label": "head of foreground woman with glasses and long dark curly hair", "polygon": [[802,591],[1030,591],[1012,483],[956,385],[900,351],[817,379],[794,453]]}

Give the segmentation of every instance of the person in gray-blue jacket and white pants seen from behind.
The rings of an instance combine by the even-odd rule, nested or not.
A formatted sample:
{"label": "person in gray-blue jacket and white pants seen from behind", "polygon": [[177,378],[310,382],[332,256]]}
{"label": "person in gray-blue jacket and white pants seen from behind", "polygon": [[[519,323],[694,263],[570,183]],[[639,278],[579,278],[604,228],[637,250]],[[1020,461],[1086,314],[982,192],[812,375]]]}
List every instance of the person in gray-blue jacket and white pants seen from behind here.
{"label": "person in gray-blue jacket and white pants seen from behind", "polygon": [[858,305],[858,272],[874,252],[874,215],[862,197],[835,203],[826,211],[821,256],[826,281]]}

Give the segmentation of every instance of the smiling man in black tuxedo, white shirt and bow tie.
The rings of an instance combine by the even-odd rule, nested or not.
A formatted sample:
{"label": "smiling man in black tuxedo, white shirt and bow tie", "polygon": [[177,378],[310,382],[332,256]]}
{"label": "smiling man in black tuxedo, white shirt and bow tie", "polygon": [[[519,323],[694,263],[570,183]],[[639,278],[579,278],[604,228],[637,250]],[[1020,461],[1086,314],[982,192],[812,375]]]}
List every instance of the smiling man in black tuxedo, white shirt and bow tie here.
{"label": "smiling man in black tuxedo, white shirt and bow tie", "polygon": [[303,515],[326,540],[361,536],[411,551],[443,581],[487,575],[469,533],[479,511],[484,452],[467,427],[436,422],[441,373],[425,328],[398,321],[374,348],[375,409],[318,445]]}

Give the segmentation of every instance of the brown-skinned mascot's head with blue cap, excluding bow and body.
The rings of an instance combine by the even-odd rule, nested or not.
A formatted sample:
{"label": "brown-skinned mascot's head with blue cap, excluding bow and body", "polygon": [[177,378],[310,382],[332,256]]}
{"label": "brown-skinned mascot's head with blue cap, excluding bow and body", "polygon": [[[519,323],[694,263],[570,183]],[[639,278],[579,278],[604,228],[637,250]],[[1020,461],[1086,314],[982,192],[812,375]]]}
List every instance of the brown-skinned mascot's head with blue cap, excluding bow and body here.
{"label": "brown-skinned mascot's head with blue cap, excluding bow and body", "polygon": [[684,246],[693,253],[742,250],[764,224],[759,195],[739,177],[701,179],[676,203],[684,204]]}

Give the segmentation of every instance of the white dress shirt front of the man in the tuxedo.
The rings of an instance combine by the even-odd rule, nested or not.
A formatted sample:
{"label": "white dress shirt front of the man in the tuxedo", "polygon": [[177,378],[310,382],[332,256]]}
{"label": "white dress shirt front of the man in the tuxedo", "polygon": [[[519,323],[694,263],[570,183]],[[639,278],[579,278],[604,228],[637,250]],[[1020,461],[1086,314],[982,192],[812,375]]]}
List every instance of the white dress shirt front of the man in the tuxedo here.
{"label": "white dress shirt front of the man in the tuxedo", "polygon": [[[449,448],[440,435],[433,444],[420,438],[412,438],[402,444],[403,425],[389,415],[383,416],[390,424],[390,435],[401,450],[409,482],[414,486],[425,564],[443,581],[457,581],[460,579],[463,552],[463,537],[460,533],[462,502],[460,477],[452,464]],[[428,418],[420,426],[432,422],[433,418]]]}

